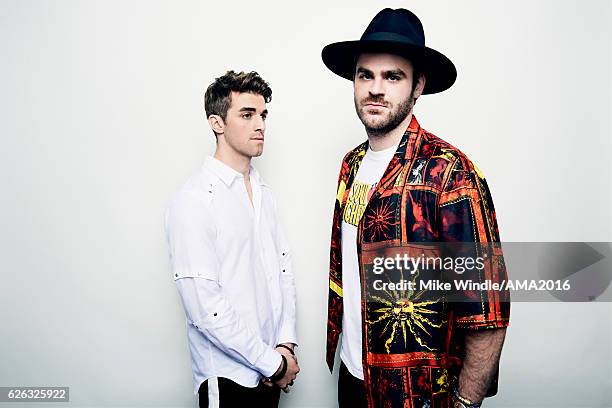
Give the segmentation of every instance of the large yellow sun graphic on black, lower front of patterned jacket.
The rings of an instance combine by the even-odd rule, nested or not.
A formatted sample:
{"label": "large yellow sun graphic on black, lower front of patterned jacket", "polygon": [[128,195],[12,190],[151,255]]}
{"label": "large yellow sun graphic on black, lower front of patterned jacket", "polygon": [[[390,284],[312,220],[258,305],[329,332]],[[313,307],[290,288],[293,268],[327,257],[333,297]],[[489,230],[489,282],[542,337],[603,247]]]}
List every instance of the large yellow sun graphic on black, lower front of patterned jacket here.
{"label": "large yellow sun graphic on black, lower front of patterned jacket", "polygon": [[[414,275],[413,282],[419,273]],[[404,280],[400,272],[401,281]],[[416,285],[414,285],[416,286]],[[422,347],[433,351],[427,345],[427,340],[432,338],[431,330],[440,328],[445,320],[436,323],[434,316],[437,311],[430,308],[431,305],[439,303],[440,299],[423,299],[424,290],[381,290],[383,296],[372,295],[370,298],[382,306],[372,310],[377,314],[373,320],[367,322],[371,325],[384,324],[380,337],[385,338],[385,349],[391,352],[391,345],[398,339],[403,340],[404,348],[408,342],[408,332]]]}

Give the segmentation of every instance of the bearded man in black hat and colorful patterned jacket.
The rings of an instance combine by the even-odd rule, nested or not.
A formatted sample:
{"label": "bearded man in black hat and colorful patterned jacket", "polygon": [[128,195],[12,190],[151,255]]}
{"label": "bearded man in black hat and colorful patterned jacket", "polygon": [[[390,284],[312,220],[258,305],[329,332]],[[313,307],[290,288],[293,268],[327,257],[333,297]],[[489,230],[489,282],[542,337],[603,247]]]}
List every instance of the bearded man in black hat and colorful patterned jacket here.
{"label": "bearded man in black hat and colorful patterned jacket", "polygon": [[[466,291],[451,302],[442,292],[393,286],[406,275],[423,282],[420,270],[372,268],[395,255],[441,253],[427,243],[499,242],[480,170],[412,112],[421,95],[452,86],[455,67],[425,46],[421,22],[404,9],[382,10],[359,41],[330,44],[322,58],[353,82],[368,137],[342,161],[333,217],[327,362],[332,370],[342,332],[339,405],[480,406],[497,391],[508,293]],[[469,275],[476,282],[507,278],[499,245],[490,245]]]}

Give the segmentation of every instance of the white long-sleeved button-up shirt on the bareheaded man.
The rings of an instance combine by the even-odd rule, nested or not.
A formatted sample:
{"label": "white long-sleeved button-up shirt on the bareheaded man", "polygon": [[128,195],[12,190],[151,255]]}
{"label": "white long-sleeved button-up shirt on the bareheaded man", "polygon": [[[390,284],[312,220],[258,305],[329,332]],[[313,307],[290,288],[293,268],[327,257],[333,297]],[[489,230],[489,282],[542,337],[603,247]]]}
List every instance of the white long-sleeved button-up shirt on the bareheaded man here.
{"label": "white long-sleeved button-up shirt on the bareheaded man", "polygon": [[290,253],[270,188],[213,157],[165,213],[172,274],[185,314],[194,393],[212,377],[255,387],[281,364],[274,348],[295,343]]}

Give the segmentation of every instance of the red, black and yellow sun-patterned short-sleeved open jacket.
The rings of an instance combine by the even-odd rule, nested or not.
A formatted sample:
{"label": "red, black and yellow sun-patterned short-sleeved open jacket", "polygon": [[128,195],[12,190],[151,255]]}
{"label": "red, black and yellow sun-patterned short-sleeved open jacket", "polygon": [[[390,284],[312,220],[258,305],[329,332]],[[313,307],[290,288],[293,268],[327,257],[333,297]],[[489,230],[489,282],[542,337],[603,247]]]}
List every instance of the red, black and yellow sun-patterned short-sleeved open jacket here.
{"label": "red, black and yellow sun-patterned short-sleeved open jacket", "polygon": [[[344,157],[338,179],[329,271],[330,370],[342,332],[342,213],[367,148],[366,141]],[[406,300],[401,291],[386,291],[381,298],[372,293],[376,277],[368,265],[385,251],[419,251],[419,243],[499,242],[483,175],[458,149],[423,130],[413,116],[357,228],[368,407],[449,406],[451,383],[464,356],[464,331],[506,327],[509,296],[484,291],[473,302],[418,302]],[[486,259],[481,279],[507,278],[499,245]],[[495,377],[488,395],[497,391]]]}

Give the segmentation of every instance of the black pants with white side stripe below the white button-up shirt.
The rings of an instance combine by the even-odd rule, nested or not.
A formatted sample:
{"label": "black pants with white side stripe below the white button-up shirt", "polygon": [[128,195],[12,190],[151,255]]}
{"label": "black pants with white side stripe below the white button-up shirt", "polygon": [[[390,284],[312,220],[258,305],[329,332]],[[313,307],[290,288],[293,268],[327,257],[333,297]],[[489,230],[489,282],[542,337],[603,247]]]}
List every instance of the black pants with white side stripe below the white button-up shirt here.
{"label": "black pants with white side stripe below the white button-up shirt", "polygon": [[[280,388],[259,384],[255,388],[243,387],[227,378],[217,377],[219,386],[219,408],[261,407],[278,408]],[[198,391],[200,408],[208,408],[208,380]]]}

